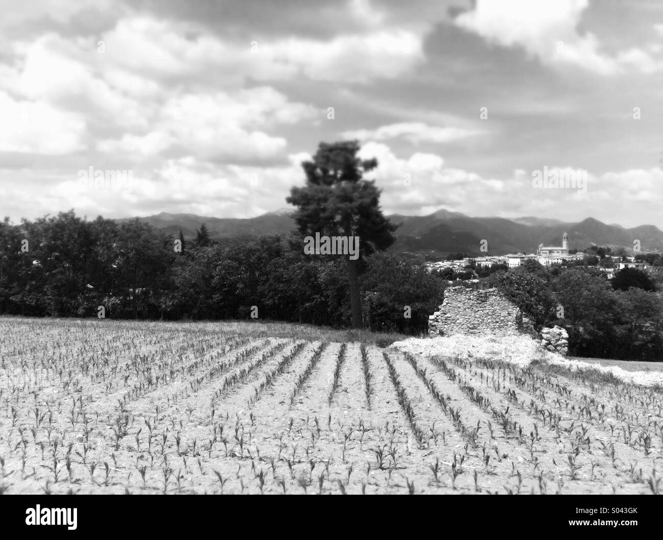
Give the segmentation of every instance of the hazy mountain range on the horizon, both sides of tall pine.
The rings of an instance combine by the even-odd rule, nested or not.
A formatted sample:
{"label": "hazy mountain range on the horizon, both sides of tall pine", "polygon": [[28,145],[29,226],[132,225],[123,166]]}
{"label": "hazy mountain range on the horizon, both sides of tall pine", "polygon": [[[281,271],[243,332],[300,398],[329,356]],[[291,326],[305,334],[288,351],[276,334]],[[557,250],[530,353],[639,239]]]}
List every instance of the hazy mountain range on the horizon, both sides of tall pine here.
{"label": "hazy mountain range on the horizon, both sides of tall pine", "polygon": [[[487,240],[488,254],[506,254],[518,251],[534,252],[539,244],[559,246],[564,232],[569,236],[569,247],[583,250],[592,244],[633,248],[639,240],[642,251],[663,251],[663,231],[654,225],[640,225],[626,229],[616,223],[606,224],[588,217],[577,223],[539,217],[469,217],[462,213],[438,210],[425,216],[392,214],[392,223],[400,224],[396,231],[393,250],[444,256],[450,252],[485,255],[479,250]],[[117,219],[116,221],[127,221]],[[185,239],[196,236],[196,229],[205,223],[210,237],[216,240],[241,236],[287,235],[294,229],[292,210],[281,209],[247,219],[204,217],[194,214],[159,213],[139,217],[154,227],[172,235],[180,229]]]}

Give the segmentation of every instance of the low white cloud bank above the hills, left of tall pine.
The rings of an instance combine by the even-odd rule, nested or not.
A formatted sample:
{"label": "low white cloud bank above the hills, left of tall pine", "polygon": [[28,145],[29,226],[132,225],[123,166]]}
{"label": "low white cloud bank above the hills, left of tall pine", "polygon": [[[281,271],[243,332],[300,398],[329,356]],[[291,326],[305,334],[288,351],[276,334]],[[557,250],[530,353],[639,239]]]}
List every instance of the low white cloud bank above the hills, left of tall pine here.
{"label": "low white cloud bank above the hills, left of tall pine", "polygon": [[[74,207],[88,216],[131,217],[176,211],[218,217],[255,217],[286,206],[295,184],[303,184],[300,163],[310,154],[288,156],[282,166],[243,166],[200,162],[192,156],[166,160],[154,170],[126,170],[118,182],[95,185],[81,182],[77,171],[58,174],[38,193],[26,187],[35,179],[0,169],[0,197],[29,207],[27,217]],[[94,167],[101,170],[100,167]],[[104,170],[105,172],[105,170]],[[13,182],[8,182],[9,178]],[[20,182],[17,181],[21,180]]]}

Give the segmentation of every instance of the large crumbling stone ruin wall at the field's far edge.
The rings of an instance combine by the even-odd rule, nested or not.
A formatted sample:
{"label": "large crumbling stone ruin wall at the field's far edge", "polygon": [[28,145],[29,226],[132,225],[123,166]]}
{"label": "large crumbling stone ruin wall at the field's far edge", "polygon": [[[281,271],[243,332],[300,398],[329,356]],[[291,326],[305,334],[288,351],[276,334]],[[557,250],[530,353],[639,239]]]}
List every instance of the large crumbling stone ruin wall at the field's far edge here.
{"label": "large crumbling stone ruin wall at the field's far edge", "polygon": [[430,336],[533,331],[531,321],[499,290],[450,287],[440,310],[428,317]]}

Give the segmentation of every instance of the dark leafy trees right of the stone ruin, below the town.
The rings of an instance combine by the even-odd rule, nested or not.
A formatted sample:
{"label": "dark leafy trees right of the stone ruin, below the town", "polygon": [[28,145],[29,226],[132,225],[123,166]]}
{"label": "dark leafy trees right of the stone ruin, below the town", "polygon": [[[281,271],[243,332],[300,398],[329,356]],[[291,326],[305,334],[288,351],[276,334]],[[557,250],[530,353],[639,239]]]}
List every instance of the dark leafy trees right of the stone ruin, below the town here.
{"label": "dark leafy trees right of the stone ruin, below the town", "polygon": [[537,326],[566,328],[570,354],[660,360],[663,297],[640,270],[619,270],[615,279],[618,286],[591,266],[536,264],[496,272],[486,284],[505,292]]}

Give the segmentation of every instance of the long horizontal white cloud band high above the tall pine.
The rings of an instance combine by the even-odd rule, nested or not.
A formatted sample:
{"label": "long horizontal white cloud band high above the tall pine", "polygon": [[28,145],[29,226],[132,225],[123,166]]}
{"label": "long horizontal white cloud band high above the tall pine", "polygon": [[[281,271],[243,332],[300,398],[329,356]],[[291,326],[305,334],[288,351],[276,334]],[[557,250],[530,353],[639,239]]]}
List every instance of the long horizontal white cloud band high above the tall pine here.
{"label": "long horizontal white cloud band high above the tall pine", "polygon": [[158,78],[201,76],[223,85],[306,77],[366,83],[406,74],[424,61],[422,32],[391,27],[330,39],[229,40],[190,23],[123,19],[103,36],[105,58],[116,68]]}

